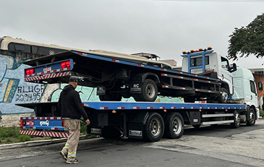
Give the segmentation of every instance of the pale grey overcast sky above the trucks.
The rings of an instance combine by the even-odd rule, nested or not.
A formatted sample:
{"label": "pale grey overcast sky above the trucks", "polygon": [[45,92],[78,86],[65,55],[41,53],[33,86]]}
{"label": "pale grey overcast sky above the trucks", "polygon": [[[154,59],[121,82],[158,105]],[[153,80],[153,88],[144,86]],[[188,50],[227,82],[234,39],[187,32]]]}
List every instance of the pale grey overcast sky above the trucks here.
{"label": "pale grey overcast sky above the trucks", "polygon": [[[124,54],[153,53],[181,65],[181,51],[208,46],[227,54],[229,35],[264,13],[264,1],[8,0],[0,36]],[[241,58],[240,67],[264,59]]]}

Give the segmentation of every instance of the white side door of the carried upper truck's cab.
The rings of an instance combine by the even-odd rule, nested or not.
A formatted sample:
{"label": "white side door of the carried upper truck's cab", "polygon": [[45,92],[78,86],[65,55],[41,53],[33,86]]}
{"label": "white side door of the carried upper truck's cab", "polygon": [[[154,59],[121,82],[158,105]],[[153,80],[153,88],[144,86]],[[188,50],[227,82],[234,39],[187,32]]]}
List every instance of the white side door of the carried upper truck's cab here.
{"label": "white side door of the carried upper truck's cab", "polygon": [[230,65],[229,65],[229,61],[227,60],[227,58],[224,58],[221,56],[221,65],[222,67],[220,67],[219,74],[218,74],[219,79],[221,79],[223,82],[228,84],[229,93],[233,95],[233,80],[232,80],[232,74],[231,72],[229,72]]}

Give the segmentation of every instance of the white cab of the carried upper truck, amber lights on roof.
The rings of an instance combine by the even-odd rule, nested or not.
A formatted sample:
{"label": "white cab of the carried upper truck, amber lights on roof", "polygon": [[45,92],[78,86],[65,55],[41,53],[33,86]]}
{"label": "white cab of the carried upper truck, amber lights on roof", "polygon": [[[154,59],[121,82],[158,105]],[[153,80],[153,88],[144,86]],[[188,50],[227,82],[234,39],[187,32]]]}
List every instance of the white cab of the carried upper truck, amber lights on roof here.
{"label": "white cab of the carried upper truck, amber lights on roof", "polygon": [[207,51],[199,49],[199,51],[191,51],[181,56],[183,56],[183,72],[208,74],[210,77],[221,79],[222,100],[220,101],[226,103],[228,96],[233,95],[231,72],[236,71],[236,64],[233,64],[233,67],[231,67],[226,56],[214,52],[211,47],[208,47]]}

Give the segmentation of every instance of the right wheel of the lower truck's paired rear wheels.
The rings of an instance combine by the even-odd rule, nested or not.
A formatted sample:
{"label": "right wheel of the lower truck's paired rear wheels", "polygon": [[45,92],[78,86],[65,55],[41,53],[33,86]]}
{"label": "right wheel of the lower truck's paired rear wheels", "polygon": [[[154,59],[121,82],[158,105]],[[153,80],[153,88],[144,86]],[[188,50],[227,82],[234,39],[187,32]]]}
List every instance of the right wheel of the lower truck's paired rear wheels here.
{"label": "right wheel of the lower truck's paired rear wheels", "polygon": [[184,121],[180,113],[170,113],[165,118],[165,136],[167,138],[181,138],[184,132]]}

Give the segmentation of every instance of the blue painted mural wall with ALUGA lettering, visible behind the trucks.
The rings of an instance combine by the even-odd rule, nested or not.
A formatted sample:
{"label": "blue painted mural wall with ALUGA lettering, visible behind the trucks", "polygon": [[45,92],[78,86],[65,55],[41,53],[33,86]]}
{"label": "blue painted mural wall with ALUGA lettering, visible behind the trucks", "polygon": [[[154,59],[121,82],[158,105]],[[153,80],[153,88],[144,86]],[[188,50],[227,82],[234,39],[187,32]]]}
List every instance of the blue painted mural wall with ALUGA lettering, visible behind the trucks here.
{"label": "blue painted mural wall with ALUGA lettering, visible behind the trucks", "polygon": [[[19,59],[18,59],[19,60]],[[22,64],[26,59],[16,61],[14,56],[0,54],[0,116],[15,113],[31,113],[32,109],[26,109],[15,104],[35,102],[57,102],[61,90],[66,84],[33,84],[24,82],[24,68]],[[76,91],[80,93],[83,101],[99,101],[96,88],[78,86]],[[122,99],[124,102],[134,102],[133,98]],[[158,97],[156,102],[183,102],[179,98]]]}

